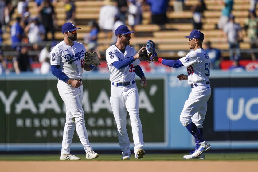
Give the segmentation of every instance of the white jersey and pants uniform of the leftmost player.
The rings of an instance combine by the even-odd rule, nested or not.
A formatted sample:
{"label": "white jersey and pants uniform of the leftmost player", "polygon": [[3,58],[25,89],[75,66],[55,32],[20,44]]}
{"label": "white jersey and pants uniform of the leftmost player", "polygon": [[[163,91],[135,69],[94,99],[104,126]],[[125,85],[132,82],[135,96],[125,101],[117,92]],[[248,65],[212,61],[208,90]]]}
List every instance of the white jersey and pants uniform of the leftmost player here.
{"label": "white jersey and pants uniform of the leftmost player", "polygon": [[[83,72],[83,57],[86,49],[83,44],[73,41],[73,46],[64,41],[57,44],[50,52],[51,65],[60,65],[60,70],[71,79],[80,79]],[[70,154],[70,147],[76,127],[76,132],[84,146],[85,153],[92,150],[85,127],[84,111],[82,108],[83,86],[78,88],[61,80],[57,89],[65,102],[66,121],[64,127],[61,154]],[[75,119],[75,121],[74,121]]]}

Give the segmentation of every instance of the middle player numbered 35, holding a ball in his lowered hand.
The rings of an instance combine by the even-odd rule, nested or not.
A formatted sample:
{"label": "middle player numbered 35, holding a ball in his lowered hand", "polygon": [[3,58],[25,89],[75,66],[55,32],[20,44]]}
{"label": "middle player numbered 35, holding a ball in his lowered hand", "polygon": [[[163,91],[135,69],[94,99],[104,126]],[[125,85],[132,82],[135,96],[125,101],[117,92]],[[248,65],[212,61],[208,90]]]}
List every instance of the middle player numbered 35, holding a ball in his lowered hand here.
{"label": "middle player numbered 35, holding a ball in his lowered hand", "polygon": [[[129,112],[135,158],[143,158],[143,132],[139,118],[139,94],[135,84],[135,73],[141,80],[143,87],[147,86],[147,80],[139,66],[139,54],[135,49],[128,46],[130,44],[131,33],[127,26],[120,25],[115,30],[117,41],[106,51],[106,59],[110,72],[111,96],[110,103],[115,117],[118,141],[122,149],[122,159],[128,160],[131,157],[130,141],[126,129],[126,109]],[[141,51],[143,52],[143,49]]]}

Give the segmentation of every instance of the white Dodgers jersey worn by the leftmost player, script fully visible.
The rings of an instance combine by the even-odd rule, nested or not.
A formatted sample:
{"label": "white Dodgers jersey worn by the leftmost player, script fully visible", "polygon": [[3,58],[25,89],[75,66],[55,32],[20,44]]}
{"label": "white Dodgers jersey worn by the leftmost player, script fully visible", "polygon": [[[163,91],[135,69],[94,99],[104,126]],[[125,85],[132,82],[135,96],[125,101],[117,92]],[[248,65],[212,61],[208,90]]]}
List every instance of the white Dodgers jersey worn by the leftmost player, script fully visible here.
{"label": "white Dodgers jersey worn by the leftmost player, script fully visible", "polygon": [[83,44],[73,41],[73,46],[64,41],[57,44],[50,52],[51,65],[60,65],[59,69],[71,79],[80,79],[83,72],[83,57],[86,49]]}

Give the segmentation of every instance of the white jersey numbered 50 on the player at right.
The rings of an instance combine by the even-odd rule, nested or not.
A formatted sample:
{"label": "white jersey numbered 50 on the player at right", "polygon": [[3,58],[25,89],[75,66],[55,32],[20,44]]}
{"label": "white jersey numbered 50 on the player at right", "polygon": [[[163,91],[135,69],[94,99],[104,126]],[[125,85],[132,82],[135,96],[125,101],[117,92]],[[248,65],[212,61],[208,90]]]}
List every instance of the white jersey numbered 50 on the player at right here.
{"label": "white jersey numbered 50 on the player at right", "polygon": [[209,81],[210,59],[204,49],[191,51],[179,60],[187,68],[188,84]]}

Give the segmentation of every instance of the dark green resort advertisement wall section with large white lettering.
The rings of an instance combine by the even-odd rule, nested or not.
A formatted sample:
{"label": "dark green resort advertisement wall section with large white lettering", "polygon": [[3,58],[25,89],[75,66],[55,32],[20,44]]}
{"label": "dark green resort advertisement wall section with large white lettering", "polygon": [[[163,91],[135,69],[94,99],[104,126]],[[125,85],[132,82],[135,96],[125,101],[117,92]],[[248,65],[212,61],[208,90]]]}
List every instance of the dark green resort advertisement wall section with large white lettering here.
{"label": "dark green resort advertisement wall section with large white lettering", "polygon": [[[97,78],[96,78],[97,77]],[[148,87],[139,92],[140,119],[144,141],[149,146],[167,145],[166,76],[148,79]],[[92,145],[117,147],[117,128],[110,98],[110,81],[107,76],[83,78],[83,109],[85,125]],[[57,90],[55,77],[10,77],[1,80],[1,149],[55,149],[60,147],[65,125],[65,104]],[[158,114],[158,118],[156,117]],[[132,141],[131,122],[127,112],[127,130]],[[77,135],[75,146],[81,143]]]}

